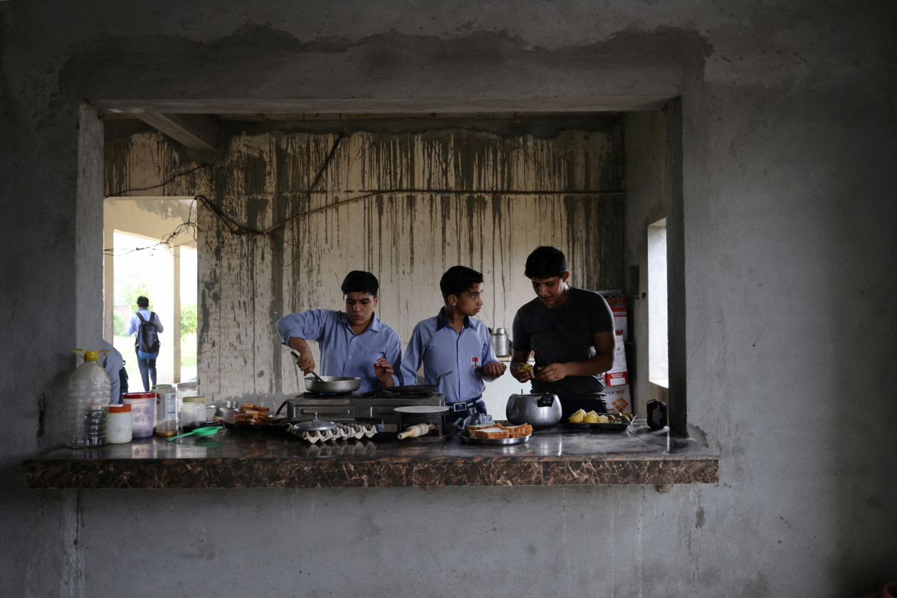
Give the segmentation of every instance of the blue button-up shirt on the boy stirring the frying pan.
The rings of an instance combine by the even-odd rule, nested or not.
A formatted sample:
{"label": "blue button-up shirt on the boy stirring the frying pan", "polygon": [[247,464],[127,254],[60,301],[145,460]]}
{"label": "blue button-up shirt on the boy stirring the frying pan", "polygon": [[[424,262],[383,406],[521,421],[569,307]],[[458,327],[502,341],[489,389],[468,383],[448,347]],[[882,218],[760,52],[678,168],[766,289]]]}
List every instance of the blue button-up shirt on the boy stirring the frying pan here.
{"label": "blue button-up shirt on the boy stirring the frying pan", "polygon": [[356,335],[344,311],[309,309],[277,320],[277,334],[288,347],[293,337],[318,341],[321,376],[360,377],[361,392],[374,390],[380,387],[374,362],[385,357],[396,371],[393,382],[401,384],[398,372],[402,367],[402,341],[376,314],[368,329]]}

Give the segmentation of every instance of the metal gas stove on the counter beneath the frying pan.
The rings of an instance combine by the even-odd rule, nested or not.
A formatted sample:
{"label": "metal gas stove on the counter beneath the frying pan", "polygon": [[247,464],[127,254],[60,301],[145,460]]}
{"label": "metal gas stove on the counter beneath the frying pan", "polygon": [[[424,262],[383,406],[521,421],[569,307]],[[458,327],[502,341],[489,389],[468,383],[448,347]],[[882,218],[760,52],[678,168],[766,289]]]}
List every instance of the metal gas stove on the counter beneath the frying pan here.
{"label": "metal gas stove on the counter beneath the frying pan", "polygon": [[384,432],[397,432],[402,424],[396,407],[405,405],[444,405],[445,394],[433,392],[390,393],[372,390],[367,393],[299,394],[287,399],[287,420],[292,423],[315,419],[347,422],[354,420],[383,421]]}

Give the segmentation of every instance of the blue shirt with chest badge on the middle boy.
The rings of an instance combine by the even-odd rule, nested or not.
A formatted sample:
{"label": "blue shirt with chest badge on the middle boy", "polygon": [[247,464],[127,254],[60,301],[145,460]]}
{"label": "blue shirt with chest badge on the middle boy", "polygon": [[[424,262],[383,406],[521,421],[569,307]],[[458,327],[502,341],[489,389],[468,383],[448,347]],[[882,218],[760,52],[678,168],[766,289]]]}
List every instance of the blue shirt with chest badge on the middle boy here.
{"label": "blue shirt with chest badge on the middle boy", "polygon": [[417,383],[417,370],[423,363],[424,384],[436,384],[440,374],[451,371],[440,380],[437,390],[446,395],[446,403],[470,401],[483,394],[483,364],[498,361],[492,351],[489,328],[483,322],[464,318],[460,334],[448,324],[442,310],[414,326],[411,342],[402,358],[402,380],[406,385]]}

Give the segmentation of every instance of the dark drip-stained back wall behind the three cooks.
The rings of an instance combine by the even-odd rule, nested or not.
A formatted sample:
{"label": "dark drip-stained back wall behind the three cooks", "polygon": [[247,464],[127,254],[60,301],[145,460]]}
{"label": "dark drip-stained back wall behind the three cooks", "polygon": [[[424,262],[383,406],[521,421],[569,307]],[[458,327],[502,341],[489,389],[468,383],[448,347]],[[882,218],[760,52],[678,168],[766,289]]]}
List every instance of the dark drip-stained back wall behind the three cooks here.
{"label": "dark drip-stained back wall behind the three cooks", "polygon": [[[164,137],[151,137],[122,144],[112,160],[108,150],[108,189],[193,166]],[[200,213],[198,367],[214,400],[295,393],[295,366],[274,322],[294,310],[341,309],[349,270],[378,276],[378,316],[405,342],[440,308],[439,279],[450,265],[483,272],[481,319],[508,329],[533,297],[523,270],[537,245],[565,251],[576,286],[622,286],[619,126],[551,139],[465,129],[349,133],[311,189],[336,137],[237,134],[214,165],[210,197],[252,228],[331,206],[261,238],[234,237]],[[187,186],[166,190],[186,195]],[[377,195],[352,201],[365,194]]]}

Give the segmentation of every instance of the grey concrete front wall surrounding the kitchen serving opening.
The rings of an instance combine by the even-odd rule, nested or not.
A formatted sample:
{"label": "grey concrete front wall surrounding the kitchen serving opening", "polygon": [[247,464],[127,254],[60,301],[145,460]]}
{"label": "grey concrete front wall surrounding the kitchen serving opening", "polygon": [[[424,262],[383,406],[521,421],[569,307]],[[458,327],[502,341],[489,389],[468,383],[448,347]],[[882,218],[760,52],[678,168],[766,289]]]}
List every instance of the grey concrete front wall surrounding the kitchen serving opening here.
{"label": "grey concrete front wall surrounding the kitchen serving opening", "polygon": [[[536,595],[880,587],[897,562],[887,507],[897,289],[886,275],[897,216],[895,10],[0,3],[4,588],[183,594],[187,578],[228,572],[220,593],[349,594],[370,580],[375,593],[411,595],[401,588],[422,571],[430,595],[456,595],[471,571],[474,582],[509,580]],[[101,334],[100,295],[79,295],[102,280],[101,256],[83,245],[101,239],[90,226],[101,137],[81,100],[438,112],[659,108],[675,97],[679,352],[692,433],[722,455],[718,485],[22,490],[22,458],[59,438],[74,367],[59,346]],[[397,530],[413,525],[426,539],[402,542]],[[357,573],[344,575],[344,559]]]}

